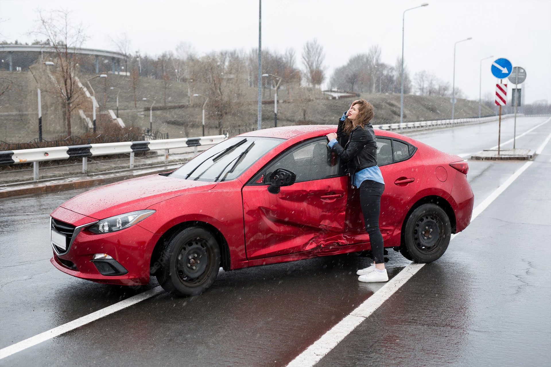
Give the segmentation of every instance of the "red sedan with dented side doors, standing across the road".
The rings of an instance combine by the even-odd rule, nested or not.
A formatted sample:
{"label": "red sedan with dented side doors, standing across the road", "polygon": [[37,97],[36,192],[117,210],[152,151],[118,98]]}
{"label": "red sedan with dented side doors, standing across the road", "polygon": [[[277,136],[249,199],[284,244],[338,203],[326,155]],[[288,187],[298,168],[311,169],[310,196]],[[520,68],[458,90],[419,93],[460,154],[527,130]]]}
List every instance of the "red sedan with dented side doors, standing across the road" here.
{"label": "red sedan with dented side doors, standing across the road", "polygon": [[[105,185],[51,213],[51,262],[75,277],[199,294],[224,270],[370,249],[335,125],[257,130],[210,147],[175,171]],[[471,220],[467,163],[375,130],[385,179],[385,247],[430,262]]]}

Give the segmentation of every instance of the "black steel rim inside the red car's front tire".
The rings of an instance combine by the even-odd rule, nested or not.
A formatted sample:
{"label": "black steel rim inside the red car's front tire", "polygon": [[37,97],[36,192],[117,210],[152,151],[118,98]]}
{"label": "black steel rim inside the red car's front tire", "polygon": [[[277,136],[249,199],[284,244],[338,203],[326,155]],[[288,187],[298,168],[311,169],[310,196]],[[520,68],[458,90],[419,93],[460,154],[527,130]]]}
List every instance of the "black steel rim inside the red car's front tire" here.
{"label": "black steel rim inside the red car's front tire", "polygon": [[209,259],[213,256],[206,239],[195,237],[188,240],[176,257],[176,273],[180,282],[187,287],[201,285],[208,278]]}

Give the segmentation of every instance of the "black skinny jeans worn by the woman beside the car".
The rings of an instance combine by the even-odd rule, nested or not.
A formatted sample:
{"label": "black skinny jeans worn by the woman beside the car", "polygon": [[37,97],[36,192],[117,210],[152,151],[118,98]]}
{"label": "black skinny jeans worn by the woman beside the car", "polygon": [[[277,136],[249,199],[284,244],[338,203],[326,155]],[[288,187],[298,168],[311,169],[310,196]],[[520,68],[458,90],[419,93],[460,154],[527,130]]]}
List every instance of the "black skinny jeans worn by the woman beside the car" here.
{"label": "black skinny jeans worn by the woman beside the car", "polygon": [[369,233],[371,253],[376,264],[385,263],[382,234],[379,229],[381,195],[384,190],[385,184],[374,180],[363,180],[360,184],[360,205],[364,213],[365,231]]}

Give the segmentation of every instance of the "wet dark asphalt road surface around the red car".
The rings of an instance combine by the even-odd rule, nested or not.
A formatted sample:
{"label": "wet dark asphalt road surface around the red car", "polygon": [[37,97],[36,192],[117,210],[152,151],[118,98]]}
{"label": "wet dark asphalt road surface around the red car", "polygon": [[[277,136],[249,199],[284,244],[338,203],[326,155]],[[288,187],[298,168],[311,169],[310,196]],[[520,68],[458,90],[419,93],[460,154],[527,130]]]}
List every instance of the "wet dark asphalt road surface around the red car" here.
{"label": "wet dark asphalt road surface around the red car", "polygon": [[[517,118],[517,134],[545,117]],[[510,127],[510,129],[509,129]],[[412,134],[455,154],[497,144],[497,123]],[[512,137],[512,119],[502,125]],[[536,149],[551,122],[517,140]],[[511,143],[512,146],[512,143]],[[469,161],[475,206],[523,162]],[[533,165],[318,365],[551,365],[551,143]],[[0,200],[0,348],[146,289],[50,264],[48,214],[82,190]],[[389,251],[396,275],[409,261]],[[208,292],[160,294],[0,361],[2,366],[285,365],[382,284],[335,256],[220,271]]]}

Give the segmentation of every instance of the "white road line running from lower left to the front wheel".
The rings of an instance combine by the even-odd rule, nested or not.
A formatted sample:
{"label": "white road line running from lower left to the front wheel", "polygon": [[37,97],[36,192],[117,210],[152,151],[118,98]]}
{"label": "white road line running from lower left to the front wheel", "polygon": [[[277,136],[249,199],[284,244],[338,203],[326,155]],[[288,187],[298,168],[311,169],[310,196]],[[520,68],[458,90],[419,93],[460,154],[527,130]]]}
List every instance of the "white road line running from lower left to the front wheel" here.
{"label": "white road line running from lower left to the front wheel", "polygon": [[12,344],[9,347],[2,348],[0,349],[0,359],[6,358],[9,355],[12,355],[17,352],[21,352],[21,350],[36,346],[36,344],[45,342],[51,338],[55,338],[56,336],[59,336],[63,333],[74,330],[77,327],[86,325],[89,322],[101,319],[101,317],[120,311],[123,308],[132,306],[138,302],[142,302],[144,299],[151,298],[154,295],[159,294],[161,292],[163,292],[163,289],[160,286],[155,287],[153,289],[149,289],[148,291],[134,295],[133,297],[122,300],[121,302],[117,302],[115,304],[107,306],[106,308],[102,308],[101,310],[95,311],[91,314],[79,317],[76,320],[69,321],[67,322],[67,324],[54,327],[53,329],[40,333],[39,335],[35,335],[33,337],[30,337],[18,343]]}

